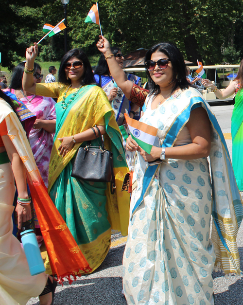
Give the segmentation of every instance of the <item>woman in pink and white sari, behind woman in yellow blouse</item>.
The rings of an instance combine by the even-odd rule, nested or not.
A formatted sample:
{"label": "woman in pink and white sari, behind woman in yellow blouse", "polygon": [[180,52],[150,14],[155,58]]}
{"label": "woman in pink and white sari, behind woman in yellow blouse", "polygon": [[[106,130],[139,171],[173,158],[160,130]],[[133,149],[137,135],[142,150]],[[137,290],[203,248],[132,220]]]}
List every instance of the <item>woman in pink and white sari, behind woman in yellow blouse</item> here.
{"label": "woman in pink and white sari, behind woman in yellow blouse", "polygon": [[[11,85],[9,89],[4,91],[14,93],[17,99],[22,101],[36,116],[34,126],[29,134],[29,140],[41,177],[46,187],[48,187],[49,162],[56,125],[55,101],[49,97],[29,94],[22,89],[24,64],[24,62],[21,62],[17,65],[12,75]],[[40,83],[43,78],[40,73],[40,66],[35,64],[34,80],[36,83]]]}

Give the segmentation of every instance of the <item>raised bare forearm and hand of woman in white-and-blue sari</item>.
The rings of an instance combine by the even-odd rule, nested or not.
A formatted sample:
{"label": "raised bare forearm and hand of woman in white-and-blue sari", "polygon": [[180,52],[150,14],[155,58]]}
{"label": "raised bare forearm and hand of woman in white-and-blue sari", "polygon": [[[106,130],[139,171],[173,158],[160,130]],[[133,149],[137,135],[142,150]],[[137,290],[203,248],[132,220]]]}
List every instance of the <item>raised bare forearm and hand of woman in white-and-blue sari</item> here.
{"label": "raised bare forearm and hand of woman in white-and-blue sari", "polygon": [[109,41],[104,36],[100,35],[99,37],[100,39],[96,46],[98,50],[104,54],[104,58],[106,58],[110,74],[117,83],[117,86],[121,88],[126,98],[130,99],[133,82],[127,79],[126,73],[121,69],[118,62],[116,61],[110,49]]}

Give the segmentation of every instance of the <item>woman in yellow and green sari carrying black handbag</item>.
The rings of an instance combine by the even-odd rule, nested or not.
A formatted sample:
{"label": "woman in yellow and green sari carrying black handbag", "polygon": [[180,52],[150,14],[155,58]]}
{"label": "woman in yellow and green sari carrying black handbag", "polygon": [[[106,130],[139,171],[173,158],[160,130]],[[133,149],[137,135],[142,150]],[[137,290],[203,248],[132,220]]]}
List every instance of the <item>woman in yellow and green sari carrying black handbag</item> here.
{"label": "woman in yellow and green sari carrying black handbag", "polygon": [[[129,195],[121,193],[127,173],[125,154],[114,112],[104,91],[93,85],[93,72],[87,56],[78,49],[64,55],[58,83],[35,84],[34,60],[37,45],[26,51],[23,88],[33,94],[57,98],[56,132],[49,166],[49,193],[67,223],[92,270],[103,262],[109,247],[111,229],[127,234]],[[80,146],[98,145],[92,131],[98,126],[106,149],[113,152],[116,192],[110,183],[89,182],[71,177]],[[97,132],[98,135],[98,132]]]}

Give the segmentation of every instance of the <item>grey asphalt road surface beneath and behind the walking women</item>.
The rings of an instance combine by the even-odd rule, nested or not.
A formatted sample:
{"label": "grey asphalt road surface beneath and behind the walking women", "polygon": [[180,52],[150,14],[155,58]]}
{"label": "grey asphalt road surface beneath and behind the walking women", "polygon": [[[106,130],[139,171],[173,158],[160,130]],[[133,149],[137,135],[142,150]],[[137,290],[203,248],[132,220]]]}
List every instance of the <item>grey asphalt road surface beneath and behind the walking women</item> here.
{"label": "grey asphalt road surface beneath and behind the walking women", "polygon": [[[233,106],[212,107],[224,134],[230,133]],[[231,140],[226,140],[232,155]],[[243,195],[243,194],[242,194]],[[243,270],[243,227],[238,233],[238,246]],[[54,305],[126,305],[121,294],[122,254],[125,238],[119,233],[112,235],[112,247],[103,264],[95,272],[79,278],[69,285],[56,288]],[[243,279],[225,278],[223,273],[214,272],[215,305],[243,305]],[[38,298],[32,298],[27,305],[39,305]]]}

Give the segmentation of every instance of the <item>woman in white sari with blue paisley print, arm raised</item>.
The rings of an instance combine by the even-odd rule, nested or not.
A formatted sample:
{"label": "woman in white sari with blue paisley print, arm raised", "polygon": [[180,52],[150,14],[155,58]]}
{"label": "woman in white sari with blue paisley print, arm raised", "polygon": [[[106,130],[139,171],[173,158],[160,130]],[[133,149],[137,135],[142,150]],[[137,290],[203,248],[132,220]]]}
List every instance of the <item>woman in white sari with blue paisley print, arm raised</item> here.
{"label": "woman in white sari with blue paisley print, arm raised", "polygon": [[[97,46],[108,56],[102,38]],[[129,305],[213,305],[213,267],[241,273],[236,235],[243,205],[226,142],[212,110],[187,82],[173,44],[151,48],[145,66],[150,93],[140,121],[158,128],[161,147],[149,155],[127,140],[138,154],[123,256],[125,297]],[[130,86],[133,93],[124,77],[111,74],[123,92],[126,86],[129,95]],[[156,159],[162,163],[149,165]]]}

